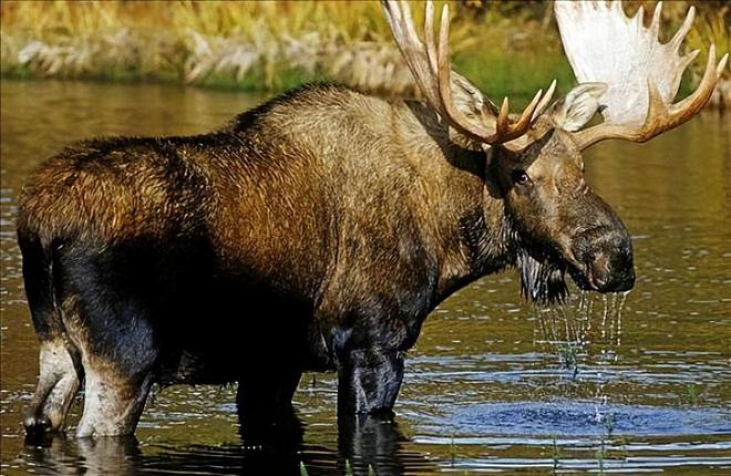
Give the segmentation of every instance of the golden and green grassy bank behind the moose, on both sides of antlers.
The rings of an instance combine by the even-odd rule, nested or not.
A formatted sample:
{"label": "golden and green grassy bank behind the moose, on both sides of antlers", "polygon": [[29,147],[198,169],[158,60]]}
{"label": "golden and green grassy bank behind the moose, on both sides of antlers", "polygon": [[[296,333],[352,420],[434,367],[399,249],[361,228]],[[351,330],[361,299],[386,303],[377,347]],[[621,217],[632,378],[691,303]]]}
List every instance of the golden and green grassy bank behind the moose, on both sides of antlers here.
{"label": "golden and green grassy bank behind the moose, on both sides of antlers", "polygon": [[[653,9],[653,1],[629,1]],[[688,3],[666,2],[669,27]],[[390,94],[413,93],[375,1],[1,3],[1,71],[12,77],[168,81],[280,91],[333,80]],[[416,21],[421,8],[414,8]],[[455,69],[488,95],[533,94],[552,79],[570,87],[550,4],[461,0],[453,4]],[[703,1],[691,48],[729,51],[728,7]],[[701,56],[702,58],[702,56]],[[696,61],[691,82],[703,61]]]}

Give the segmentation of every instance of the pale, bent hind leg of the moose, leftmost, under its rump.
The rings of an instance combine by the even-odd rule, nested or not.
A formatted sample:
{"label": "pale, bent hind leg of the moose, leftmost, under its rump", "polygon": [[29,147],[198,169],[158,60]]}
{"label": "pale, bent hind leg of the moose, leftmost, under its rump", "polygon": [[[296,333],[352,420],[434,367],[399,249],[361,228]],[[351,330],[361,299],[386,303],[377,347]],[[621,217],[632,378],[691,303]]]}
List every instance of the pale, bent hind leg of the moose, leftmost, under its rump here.
{"label": "pale, bent hind leg of the moose, leftmost, under its rump", "polygon": [[42,341],[39,360],[40,377],[23,420],[30,435],[62,430],[79,390],[78,365],[64,339]]}

